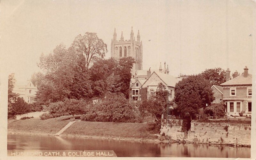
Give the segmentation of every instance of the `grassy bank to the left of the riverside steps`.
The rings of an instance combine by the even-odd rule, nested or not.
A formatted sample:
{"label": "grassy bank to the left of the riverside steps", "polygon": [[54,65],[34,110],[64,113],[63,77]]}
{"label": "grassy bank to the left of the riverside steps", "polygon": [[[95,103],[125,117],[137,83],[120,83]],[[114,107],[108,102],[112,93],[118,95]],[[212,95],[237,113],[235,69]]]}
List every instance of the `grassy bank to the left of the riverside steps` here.
{"label": "grassy bank to the left of the riverside steps", "polygon": [[66,124],[67,121],[18,120],[8,123],[8,133],[54,135]]}

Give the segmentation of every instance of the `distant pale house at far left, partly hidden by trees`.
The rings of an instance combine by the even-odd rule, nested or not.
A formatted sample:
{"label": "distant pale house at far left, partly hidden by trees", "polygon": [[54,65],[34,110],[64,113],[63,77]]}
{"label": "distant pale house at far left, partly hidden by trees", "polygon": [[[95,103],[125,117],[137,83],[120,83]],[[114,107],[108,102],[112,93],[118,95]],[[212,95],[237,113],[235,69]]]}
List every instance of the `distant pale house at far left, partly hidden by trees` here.
{"label": "distant pale house at far left, partly hidden by trees", "polygon": [[37,86],[30,80],[27,80],[24,85],[15,86],[12,92],[18,93],[19,97],[23,98],[26,102],[33,103],[36,97]]}

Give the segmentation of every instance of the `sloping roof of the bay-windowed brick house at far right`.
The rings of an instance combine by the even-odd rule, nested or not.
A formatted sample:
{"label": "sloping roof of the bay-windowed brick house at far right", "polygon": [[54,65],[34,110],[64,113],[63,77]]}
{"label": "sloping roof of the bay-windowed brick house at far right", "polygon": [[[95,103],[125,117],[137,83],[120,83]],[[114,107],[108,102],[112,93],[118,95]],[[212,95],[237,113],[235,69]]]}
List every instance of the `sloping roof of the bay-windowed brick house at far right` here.
{"label": "sloping roof of the bay-windowed brick house at far right", "polygon": [[248,74],[247,77],[244,77],[244,74],[237,76],[236,78],[233,78],[227,82],[224,82],[220,85],[245,85],[245,84],[251,84],[252,85],[252,75]]}

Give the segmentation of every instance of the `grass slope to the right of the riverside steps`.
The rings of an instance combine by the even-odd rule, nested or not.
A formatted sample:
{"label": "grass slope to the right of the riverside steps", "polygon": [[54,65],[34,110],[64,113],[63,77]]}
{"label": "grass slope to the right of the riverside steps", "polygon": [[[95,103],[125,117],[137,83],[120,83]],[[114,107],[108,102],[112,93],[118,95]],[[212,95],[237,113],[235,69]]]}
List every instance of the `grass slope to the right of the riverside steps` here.
{"label": "grass slope to the right of the riverside steps", "polygon": [[156,136],[147,131],[147,127],[148,124],[140,123],[80,121],[68,127],[62,135],[76,134],[89,137],[155,139]]}

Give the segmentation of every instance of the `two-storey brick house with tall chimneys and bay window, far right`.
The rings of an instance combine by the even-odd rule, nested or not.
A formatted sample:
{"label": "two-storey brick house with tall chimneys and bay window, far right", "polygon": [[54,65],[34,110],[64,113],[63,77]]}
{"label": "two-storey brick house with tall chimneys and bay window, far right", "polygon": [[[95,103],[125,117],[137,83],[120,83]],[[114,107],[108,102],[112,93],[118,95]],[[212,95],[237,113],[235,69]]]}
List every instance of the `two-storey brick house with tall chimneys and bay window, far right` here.
{"label": "two-storey brick house with tall chimneys and bay window, far right", "polygon": [[220,84],[223,87],[223,102],[226,105],[227,116],[252,114],[252,75],[248,74],[245,66],[244,74],[237,76],[237,71],[233,79],[230,79],[229,68],[226,70],[226,82]]}

